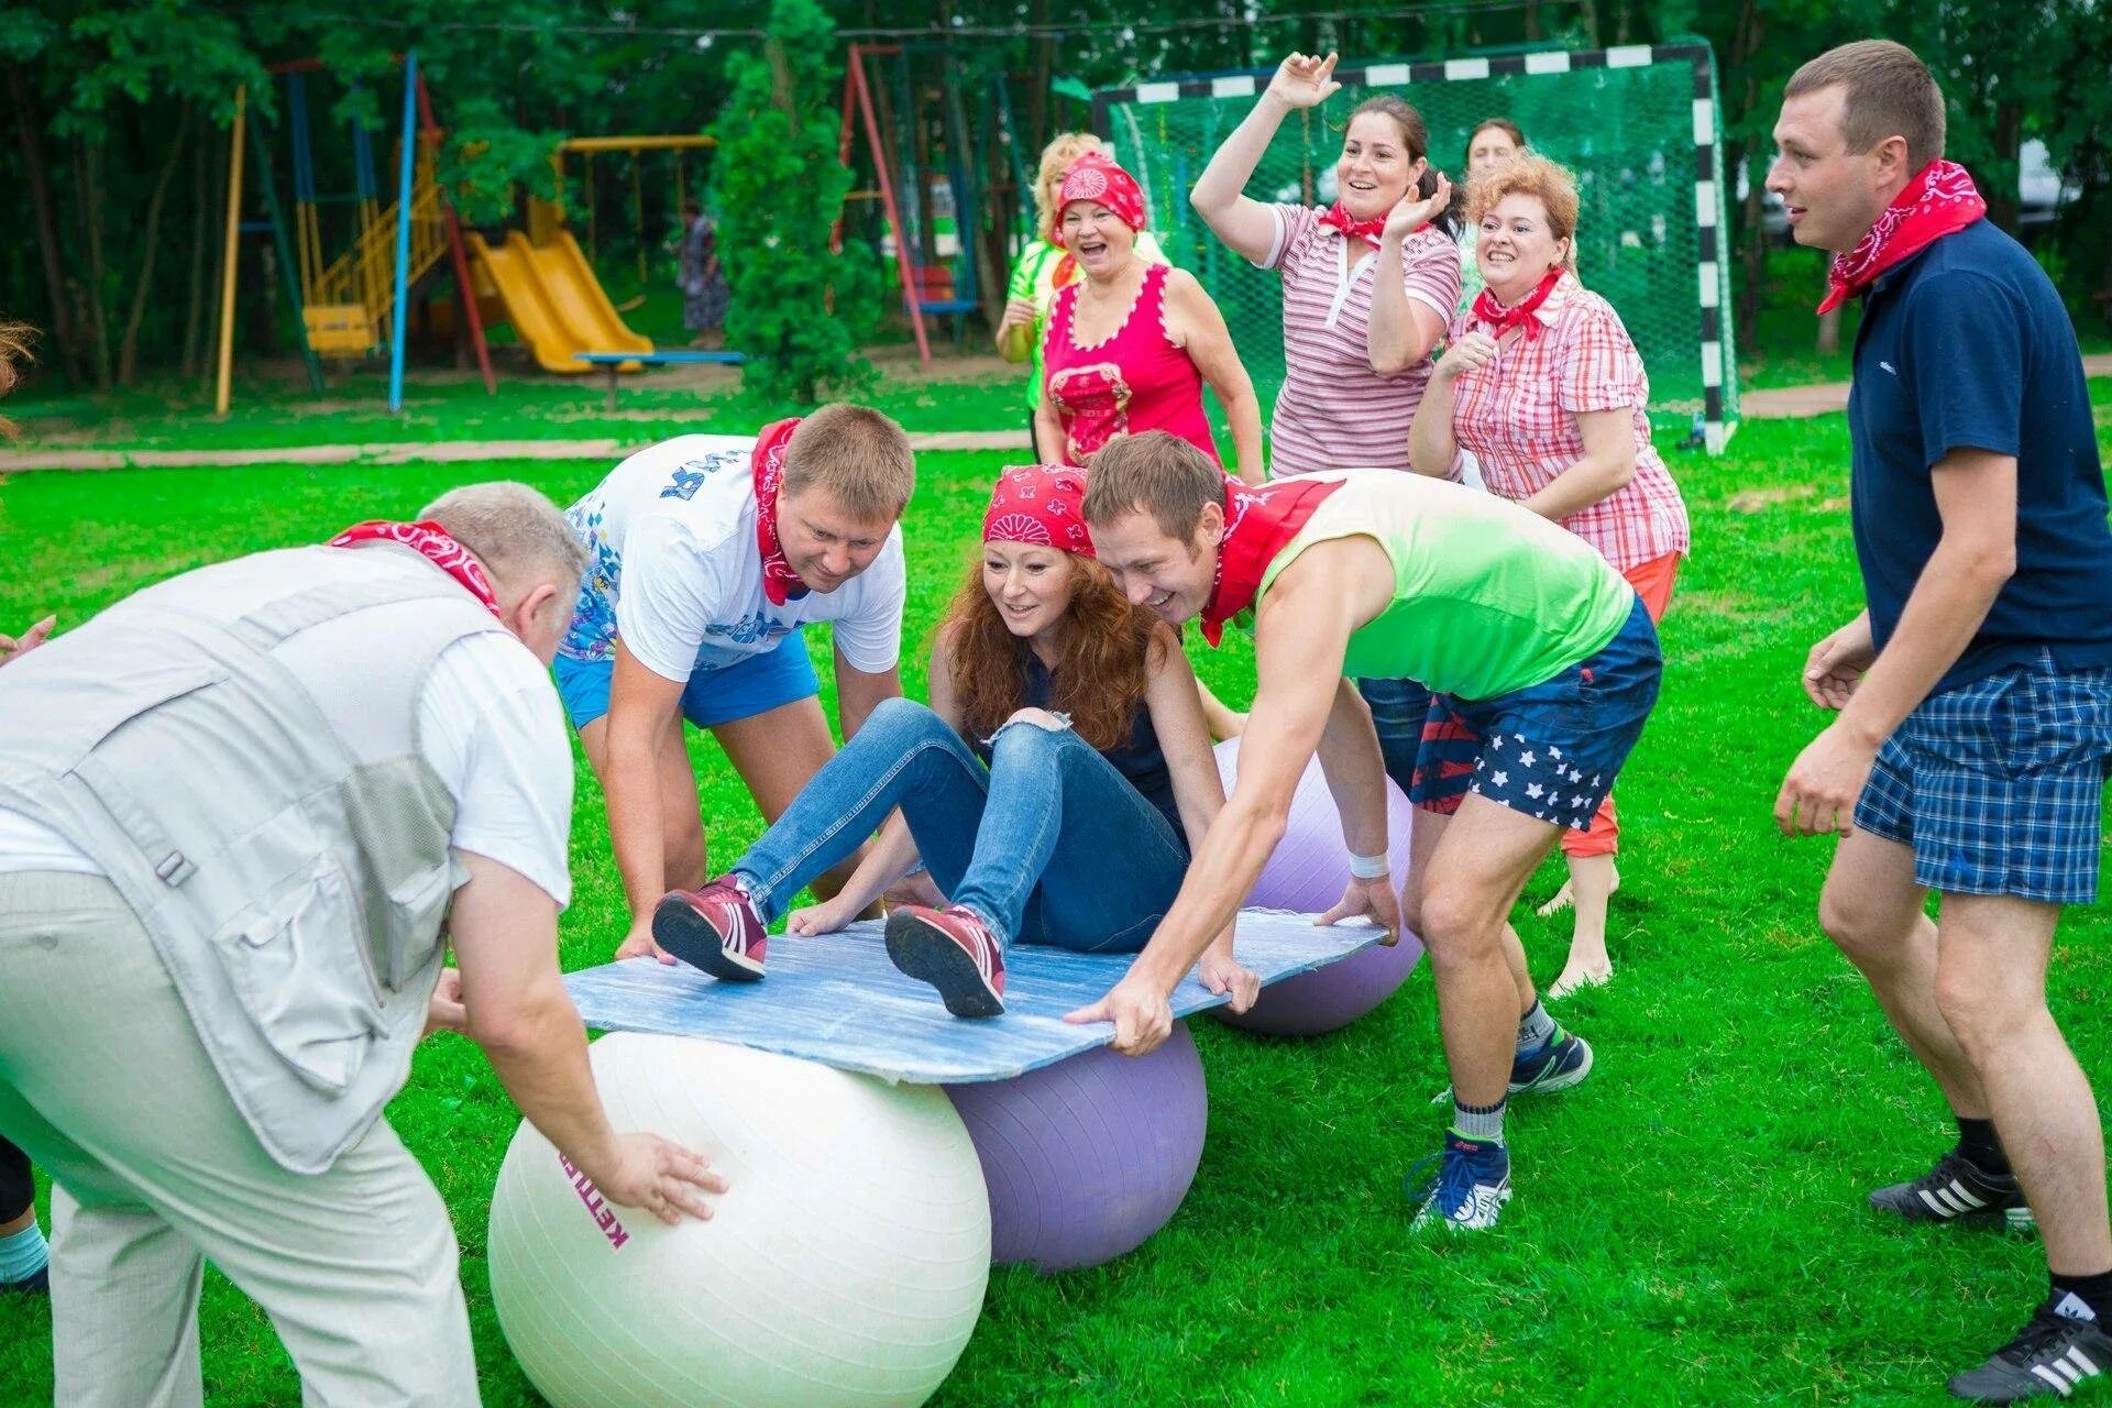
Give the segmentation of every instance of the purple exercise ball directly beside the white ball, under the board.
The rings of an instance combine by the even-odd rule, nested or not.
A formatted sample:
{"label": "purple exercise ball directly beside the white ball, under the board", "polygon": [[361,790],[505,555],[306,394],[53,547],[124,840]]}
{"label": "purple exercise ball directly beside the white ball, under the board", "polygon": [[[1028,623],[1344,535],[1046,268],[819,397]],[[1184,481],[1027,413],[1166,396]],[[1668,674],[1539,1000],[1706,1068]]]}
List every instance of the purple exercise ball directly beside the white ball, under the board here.
{"label": "purple exercise ball directly beside the white ball, under the board", "polygon": [[1098,1047],[1010,1081],[948,1085],[991,1191],[991,1260],[1098,1267],[1166,1226],[1210,1115],[1187,1024],[1151,1055]]}

